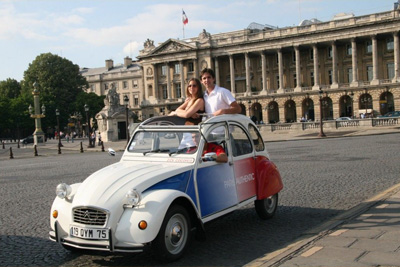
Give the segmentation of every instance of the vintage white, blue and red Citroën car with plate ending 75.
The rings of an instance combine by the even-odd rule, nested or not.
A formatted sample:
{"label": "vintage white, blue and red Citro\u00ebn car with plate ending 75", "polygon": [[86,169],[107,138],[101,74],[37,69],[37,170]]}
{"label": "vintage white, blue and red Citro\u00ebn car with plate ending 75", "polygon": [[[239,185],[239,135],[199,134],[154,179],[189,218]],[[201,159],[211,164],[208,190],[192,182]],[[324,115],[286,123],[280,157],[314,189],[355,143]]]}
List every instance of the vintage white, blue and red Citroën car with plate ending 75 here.
{"label": "vintage white, blue and red Citro\u00ebn car with plate ending 75", "polygon": [[[82,183],[59,184],[50,212],[50,239],[69,250],[141,252],[163,261],[180,258],[204,223],[250,203],[271,218],[282,190],[256,125],[243,115],[221,115],[199,125],[173,116],[141,123],[119,162]],[[196,144],[193,137],[199,137]],[[205,143],[224,148],[203,155]]]}

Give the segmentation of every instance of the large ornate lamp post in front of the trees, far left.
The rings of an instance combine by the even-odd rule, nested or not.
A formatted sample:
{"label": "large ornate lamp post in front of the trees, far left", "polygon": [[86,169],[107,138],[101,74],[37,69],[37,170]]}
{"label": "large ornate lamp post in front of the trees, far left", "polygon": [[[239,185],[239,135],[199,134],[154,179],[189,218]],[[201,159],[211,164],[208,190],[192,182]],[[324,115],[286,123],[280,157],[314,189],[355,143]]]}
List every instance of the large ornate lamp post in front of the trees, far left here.
{"label": "large ornate lamp post in front of the trees, far left", "polygon": [[[35,132],[33,133],[33,140],[34,140],[34,145],[38,145],[39,143],[44,144],[44,132],[42,130],[42,122],[41,118],[45,117],[46,113],[46,107],[42,105],[40,108],[40,103],[39,103],[39,90],[37,88],[38,84],[36,82],[33,83],[33,108],[31,105],[29,105],[29,114],[31,115],[31,118],[35,119]],[[42,113],[40,113],[40,109],[42,110]]]}

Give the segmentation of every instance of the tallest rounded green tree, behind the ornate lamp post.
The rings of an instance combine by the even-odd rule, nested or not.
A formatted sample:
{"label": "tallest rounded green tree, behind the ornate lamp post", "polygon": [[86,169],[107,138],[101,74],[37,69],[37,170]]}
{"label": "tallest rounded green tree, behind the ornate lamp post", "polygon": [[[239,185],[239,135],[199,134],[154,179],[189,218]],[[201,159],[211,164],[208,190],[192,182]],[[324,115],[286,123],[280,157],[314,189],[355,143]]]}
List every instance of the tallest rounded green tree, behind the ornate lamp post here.
{"label": "tallest rounded green tree, behind the ornate lamp post", "polygon": [[[87,87],[86,79],[79,73],[79,66],[70,60],[51,53],[37,56],[24,72],[22,94],[32,95],[36,82],[40,92],[40,104],[46,106],[46,118],[42,128],[56,125],[55,110],[60,110],[60,121],[68,121],[75,110],[74,102],[82,89]],[[33,98],[32,105],[33,105]]]}

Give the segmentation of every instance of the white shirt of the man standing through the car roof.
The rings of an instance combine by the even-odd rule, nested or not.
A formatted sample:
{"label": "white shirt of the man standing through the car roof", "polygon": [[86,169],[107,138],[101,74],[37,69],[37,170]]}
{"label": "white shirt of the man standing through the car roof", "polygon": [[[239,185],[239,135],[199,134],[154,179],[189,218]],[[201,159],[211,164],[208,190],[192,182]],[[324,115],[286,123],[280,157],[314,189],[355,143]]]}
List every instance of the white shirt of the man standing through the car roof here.
{"label": "white shirt of the man standing through the car roof", "polygon": [[214,90],[208,95],[207,90],[204,92],[204,108],[206,113],[214,113],[220,109],[227,109],[236,99],[231,91],[226,88],[215,85]]}

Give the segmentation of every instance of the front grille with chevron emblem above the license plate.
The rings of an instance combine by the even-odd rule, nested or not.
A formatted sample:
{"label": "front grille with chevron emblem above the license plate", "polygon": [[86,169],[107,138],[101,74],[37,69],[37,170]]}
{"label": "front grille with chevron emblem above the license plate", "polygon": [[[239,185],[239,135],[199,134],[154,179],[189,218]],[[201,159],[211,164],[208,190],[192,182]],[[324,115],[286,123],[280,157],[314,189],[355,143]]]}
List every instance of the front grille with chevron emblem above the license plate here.
{"label": "front grille with chevron emblem above the license plate", "polygon": [[79,207],[73,209],[74,222],[85,225],[103,226],[107,222],[107,212],[100,209]]}

